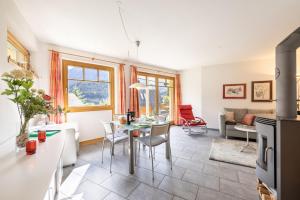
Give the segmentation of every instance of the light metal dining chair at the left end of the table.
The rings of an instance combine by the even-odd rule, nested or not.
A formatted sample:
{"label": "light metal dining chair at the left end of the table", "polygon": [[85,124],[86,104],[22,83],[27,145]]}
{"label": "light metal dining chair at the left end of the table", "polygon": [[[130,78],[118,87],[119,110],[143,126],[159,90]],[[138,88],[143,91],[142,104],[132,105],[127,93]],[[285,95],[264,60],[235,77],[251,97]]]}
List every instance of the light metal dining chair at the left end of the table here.
{"label": "light metal dining chair at the left end of the table", "polygon": [[128,134],[124,132],[124,130],[116,130],[114,123],[112,122],[102,122],[104,126],[104,139],[102,142],[102,164],[103,164],[103,152],[105,141],[110,143],[110,166],[109,171],[111,173],[111,165],[112,165],[112,156],[114,154],[115,144],[123,143],[123,151],[125,149],[125,142],[128,141]]}

